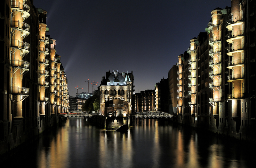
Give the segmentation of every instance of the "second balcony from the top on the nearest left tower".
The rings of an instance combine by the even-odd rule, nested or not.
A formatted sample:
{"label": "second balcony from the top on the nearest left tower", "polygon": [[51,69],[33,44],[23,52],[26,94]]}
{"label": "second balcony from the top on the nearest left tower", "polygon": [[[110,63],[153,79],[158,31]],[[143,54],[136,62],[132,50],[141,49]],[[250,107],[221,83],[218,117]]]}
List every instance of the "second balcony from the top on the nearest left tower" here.
{"label": "second balcony from the top on the nearest left tower", "polygon": [[12,28],[12,30],[22,32],[21,37],[23,39],[29,35],[30,26],[27,23],[20,22],[19,20],[12,20],[11,28]]}

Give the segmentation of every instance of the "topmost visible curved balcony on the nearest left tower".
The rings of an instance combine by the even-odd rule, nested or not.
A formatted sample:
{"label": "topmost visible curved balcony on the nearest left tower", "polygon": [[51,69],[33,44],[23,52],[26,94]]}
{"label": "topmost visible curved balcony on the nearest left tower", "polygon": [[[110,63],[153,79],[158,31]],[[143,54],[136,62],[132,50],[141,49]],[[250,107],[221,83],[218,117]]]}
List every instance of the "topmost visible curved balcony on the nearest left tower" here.
{"label": "topmost visible curved balcony on the nearest left tower", "polygon": [[[24,1],[23,1],[24,2]],[[11,1],[11,9],[14,11],[19,11],[23,13],[23,20],[29,17],[30,7],[25,3],[20,3],[19,1]]]}

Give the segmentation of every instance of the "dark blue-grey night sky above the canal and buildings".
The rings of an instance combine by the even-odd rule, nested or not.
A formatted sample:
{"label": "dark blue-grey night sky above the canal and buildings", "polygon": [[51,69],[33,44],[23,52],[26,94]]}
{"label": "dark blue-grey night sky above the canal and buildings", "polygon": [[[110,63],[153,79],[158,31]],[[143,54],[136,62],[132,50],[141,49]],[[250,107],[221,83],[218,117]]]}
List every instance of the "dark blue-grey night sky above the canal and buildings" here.
{"label": "dark blue-grey night sky above the canal and buildings", "polygon": [[[74,2],[74,3],[73,3]],[[135,92],[168,77],[190,39],[205,32],[211,11],[231,0],[34,0],[68,79],[69,95],[100,85],[106,71],[133,71]],[[90,83],[89,92],[92,93]]]}

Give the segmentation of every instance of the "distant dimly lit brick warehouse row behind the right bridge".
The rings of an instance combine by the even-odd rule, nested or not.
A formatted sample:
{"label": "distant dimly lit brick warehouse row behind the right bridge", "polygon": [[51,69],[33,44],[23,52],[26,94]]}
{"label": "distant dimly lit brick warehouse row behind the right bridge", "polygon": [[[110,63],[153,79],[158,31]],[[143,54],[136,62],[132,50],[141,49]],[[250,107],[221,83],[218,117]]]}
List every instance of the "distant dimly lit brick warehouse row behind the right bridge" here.
{"label": "distant dimly lit brick warehouse row behind the right bridge", "polygon": [[156,110],[156,95],[155,90],[140,91],[134,94],[135,112]]}

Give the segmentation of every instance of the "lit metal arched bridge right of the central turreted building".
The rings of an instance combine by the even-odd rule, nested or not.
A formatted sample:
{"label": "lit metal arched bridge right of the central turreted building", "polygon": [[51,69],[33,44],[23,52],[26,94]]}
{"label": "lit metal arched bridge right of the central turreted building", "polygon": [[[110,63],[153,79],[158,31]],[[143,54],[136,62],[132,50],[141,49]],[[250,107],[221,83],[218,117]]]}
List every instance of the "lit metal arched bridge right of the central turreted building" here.
{"label": "lit metal arched bridge right of the central turreted building", "polygon": [[146,118],[146,117],[152,117],[152,118],[159,118],[159,117],[164,117],[164,118],[172,118],[174,117],[173,115],[169,113],[165,113],[163,111],[143,111],[140,113],[133,113],[133,117],[139,117],[139,118]]}

